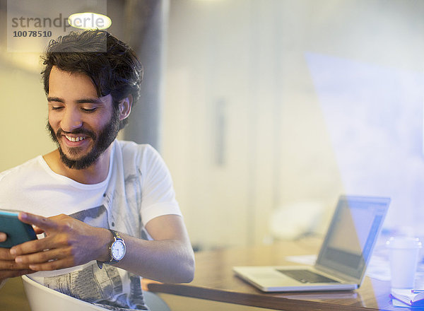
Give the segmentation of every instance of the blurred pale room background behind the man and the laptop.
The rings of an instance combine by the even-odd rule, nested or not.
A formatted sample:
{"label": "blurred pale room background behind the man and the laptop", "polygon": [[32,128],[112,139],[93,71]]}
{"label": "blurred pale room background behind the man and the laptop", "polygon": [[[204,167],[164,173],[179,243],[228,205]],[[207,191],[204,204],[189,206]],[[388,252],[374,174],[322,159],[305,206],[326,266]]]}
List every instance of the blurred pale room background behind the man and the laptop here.
{"label": "blurred pale room background behind the man and the laptop", "polygon": [[[0,4],[3,171],[54,145],[39,53],[8,52]],[[120,137],[163,155],[194,246],[320,234],[340,194],[390,196],[385,230],[424,236],[424,1],[111,0],[107,15],[146,67]]]}

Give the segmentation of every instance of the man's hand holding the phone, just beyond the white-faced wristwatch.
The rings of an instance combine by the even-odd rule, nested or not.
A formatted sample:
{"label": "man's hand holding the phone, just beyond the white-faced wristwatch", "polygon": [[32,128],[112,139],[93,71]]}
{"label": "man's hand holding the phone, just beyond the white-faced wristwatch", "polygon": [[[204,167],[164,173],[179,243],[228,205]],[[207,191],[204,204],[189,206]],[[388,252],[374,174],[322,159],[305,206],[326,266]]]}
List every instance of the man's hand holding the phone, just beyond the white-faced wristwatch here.
{"label": "man's hand holding the phone, just beyond the white-faced wristwatch", "polygon": [[107,245],[112,240],[108,230],[95,228],[64,214],[45,218],[19,213],[20,221],[36,226],[46,237],[16,245],[9,258],[34,271],[49,271],[106,260]]}

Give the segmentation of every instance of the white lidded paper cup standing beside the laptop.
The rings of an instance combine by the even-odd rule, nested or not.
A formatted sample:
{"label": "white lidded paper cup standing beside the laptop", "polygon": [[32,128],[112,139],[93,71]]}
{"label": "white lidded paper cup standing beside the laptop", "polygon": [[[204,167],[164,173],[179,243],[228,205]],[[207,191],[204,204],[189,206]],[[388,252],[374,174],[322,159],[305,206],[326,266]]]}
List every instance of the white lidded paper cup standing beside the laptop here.
{"label": "white lidded paper cup standing beside the laptop", "polygon": [[390,237],[391,288],[413,288],[421,242],[415,237]]}

